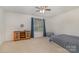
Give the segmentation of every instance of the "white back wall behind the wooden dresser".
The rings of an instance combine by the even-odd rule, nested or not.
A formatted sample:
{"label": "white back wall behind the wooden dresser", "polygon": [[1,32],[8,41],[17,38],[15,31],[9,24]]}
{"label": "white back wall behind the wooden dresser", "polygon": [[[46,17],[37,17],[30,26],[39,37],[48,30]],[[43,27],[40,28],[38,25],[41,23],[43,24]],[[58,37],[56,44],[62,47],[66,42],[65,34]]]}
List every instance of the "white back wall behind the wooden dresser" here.
{"label": "white back wall behind the wooden dresser", "polygon": [[[37,17],[37,16],[6,12],[5,41],[13,40],[13,31],[21,30],[20,24],[24,24],[26,30],[31,30],[31,17]],[[41,17],[37,17],[37,18],[41,18]]]}

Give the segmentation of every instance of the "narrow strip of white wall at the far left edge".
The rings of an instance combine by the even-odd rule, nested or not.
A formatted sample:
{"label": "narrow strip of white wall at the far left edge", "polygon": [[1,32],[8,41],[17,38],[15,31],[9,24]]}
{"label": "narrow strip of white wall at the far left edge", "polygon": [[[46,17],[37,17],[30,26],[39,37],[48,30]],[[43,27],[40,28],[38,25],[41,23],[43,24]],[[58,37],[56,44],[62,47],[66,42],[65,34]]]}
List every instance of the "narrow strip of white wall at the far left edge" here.
{"label": "narrow strip of white wall at the far left edge", "polygon": [[4,21],[4,10],[0,8],[0,44],[4,41],[5,38],[5,21]]}

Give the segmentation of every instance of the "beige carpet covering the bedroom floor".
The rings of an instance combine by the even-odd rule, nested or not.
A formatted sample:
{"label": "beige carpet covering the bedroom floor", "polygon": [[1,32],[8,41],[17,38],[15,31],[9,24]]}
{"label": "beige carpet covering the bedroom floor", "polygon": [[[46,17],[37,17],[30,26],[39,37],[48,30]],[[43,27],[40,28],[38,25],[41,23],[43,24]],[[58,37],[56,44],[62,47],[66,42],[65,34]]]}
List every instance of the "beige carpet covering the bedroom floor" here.
{"label": "beige carpet covering the bedroom floor", "polygon": [[68,51],[48,38],[34,38],[30,40],[9,41],[0,46],[0,52],[5,53],[67,53]]}

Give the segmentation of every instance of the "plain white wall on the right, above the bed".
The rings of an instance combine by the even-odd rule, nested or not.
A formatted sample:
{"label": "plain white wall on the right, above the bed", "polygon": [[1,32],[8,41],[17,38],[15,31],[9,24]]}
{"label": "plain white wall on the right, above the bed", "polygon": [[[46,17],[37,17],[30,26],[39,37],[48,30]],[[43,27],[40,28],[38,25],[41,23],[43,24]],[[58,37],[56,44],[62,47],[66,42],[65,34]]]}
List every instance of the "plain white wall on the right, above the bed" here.
{"label": "plain white wall on the right, above the bed", "polygon": [[79,9],[63,13],[47,20],[50,32],[79,36]]}

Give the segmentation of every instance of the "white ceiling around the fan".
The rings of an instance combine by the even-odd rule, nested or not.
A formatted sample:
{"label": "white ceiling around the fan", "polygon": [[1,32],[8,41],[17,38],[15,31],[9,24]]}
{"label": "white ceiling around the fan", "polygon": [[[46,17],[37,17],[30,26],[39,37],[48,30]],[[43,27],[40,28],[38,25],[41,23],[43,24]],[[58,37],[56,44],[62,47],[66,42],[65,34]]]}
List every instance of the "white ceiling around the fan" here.
{"label": "white ceiling around the fan", "polygon": [[[0,6],[0,8],[3,8],[4,10],[10,12],[43,16],[39,12],[36,12],[37,9],[35,7],[36,6]],[[79,7],[78,6],[48,6],[48,8],[50,8],[51,11],[46,11],[44,14],[45,17],[54,17]]]}

